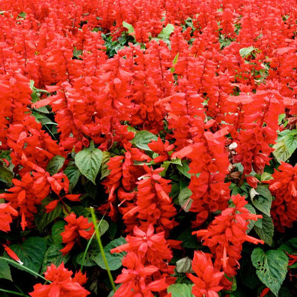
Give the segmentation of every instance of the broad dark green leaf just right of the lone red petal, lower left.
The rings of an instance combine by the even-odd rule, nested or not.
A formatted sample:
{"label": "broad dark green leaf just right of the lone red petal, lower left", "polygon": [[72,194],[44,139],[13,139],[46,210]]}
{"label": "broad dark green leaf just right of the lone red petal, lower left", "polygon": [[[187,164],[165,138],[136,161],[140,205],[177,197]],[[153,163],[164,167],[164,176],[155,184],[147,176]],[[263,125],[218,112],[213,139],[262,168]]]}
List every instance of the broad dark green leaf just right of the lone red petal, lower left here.
{"label": "broad dark green leaf just right of the lone red petal, lower left", "polygon": [[[39,272],[47,251],[46,240],[41,237],[29,237],[20,245],[9,246],[24,263],[24,266]],[[19,265],[16,268],[21,269]]]}

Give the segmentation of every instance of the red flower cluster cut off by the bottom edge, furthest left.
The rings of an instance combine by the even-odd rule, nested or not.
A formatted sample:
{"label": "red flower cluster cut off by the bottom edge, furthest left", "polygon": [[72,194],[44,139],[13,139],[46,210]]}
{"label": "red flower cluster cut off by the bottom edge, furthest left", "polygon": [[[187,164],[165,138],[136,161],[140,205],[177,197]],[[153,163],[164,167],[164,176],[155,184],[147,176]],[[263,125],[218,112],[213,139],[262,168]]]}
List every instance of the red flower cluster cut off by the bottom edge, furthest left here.
{"label": "red flower cluster cut off by the bottom edge, furthest left", "polygon": [[34,291],[29,293],[31,297],[86,297],[90,294],[82,287],[86,278],[81,273],[76,273],[72,278],[72,271],[64,267],[62,263],[58,267],[54,264],[48,266],[45,278],[51,281],[49,285],[37,284]]}

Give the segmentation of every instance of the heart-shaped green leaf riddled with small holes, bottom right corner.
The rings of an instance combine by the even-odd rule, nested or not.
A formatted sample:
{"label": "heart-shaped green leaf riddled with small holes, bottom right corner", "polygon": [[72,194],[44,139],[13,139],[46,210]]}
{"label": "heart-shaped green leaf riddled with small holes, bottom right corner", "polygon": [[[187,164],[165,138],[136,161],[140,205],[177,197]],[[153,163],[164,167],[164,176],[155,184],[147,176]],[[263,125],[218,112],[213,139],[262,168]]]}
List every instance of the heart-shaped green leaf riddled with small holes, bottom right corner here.
{"label": "heart-shaped green leaf riddled with small holes, bottom right corner", "polygon": [[252,251],[251,262],[256,268],[260,281],[268,287],[271,292],[278,296],[278,292],[287,274],[288,257],[277,249],[266,252],[257,247]]}

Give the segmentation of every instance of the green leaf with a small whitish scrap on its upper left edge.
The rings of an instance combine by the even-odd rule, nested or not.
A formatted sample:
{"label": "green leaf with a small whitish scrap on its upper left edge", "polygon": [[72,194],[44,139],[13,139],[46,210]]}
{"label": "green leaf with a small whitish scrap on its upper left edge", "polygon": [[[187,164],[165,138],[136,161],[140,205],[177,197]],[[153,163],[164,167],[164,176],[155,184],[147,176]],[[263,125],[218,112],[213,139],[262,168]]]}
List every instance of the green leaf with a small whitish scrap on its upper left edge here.
{"label": "green leaf with a small whitish scrap on its upper left edge", "polygon": [[250,192],[250,198],[253,205],[263,213],[270,216],[270,208],[272,203],[272,196],[268,188],[258,186],[255,190]]}

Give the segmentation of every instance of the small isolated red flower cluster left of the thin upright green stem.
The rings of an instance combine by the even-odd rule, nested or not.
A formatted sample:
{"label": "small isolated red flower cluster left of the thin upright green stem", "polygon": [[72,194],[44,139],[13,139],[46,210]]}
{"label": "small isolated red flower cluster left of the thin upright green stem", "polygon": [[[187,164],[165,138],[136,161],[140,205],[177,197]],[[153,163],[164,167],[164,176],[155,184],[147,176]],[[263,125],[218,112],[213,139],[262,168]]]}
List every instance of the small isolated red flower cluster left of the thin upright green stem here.
{"label": "small isolated red flower cluster left of the thin upright green stem", "polygon": [[67,254],[76,242],[81,245],[81,237],[90,239],[94,233],[93,223],[89,223],[88,218],[82,215],[76,218],[76,214],[72,212],[65,217],[65,221],[67,225],[65,226],[65,231],[61,233],[61,236],[66,246],[60,250],[63,255]]}

